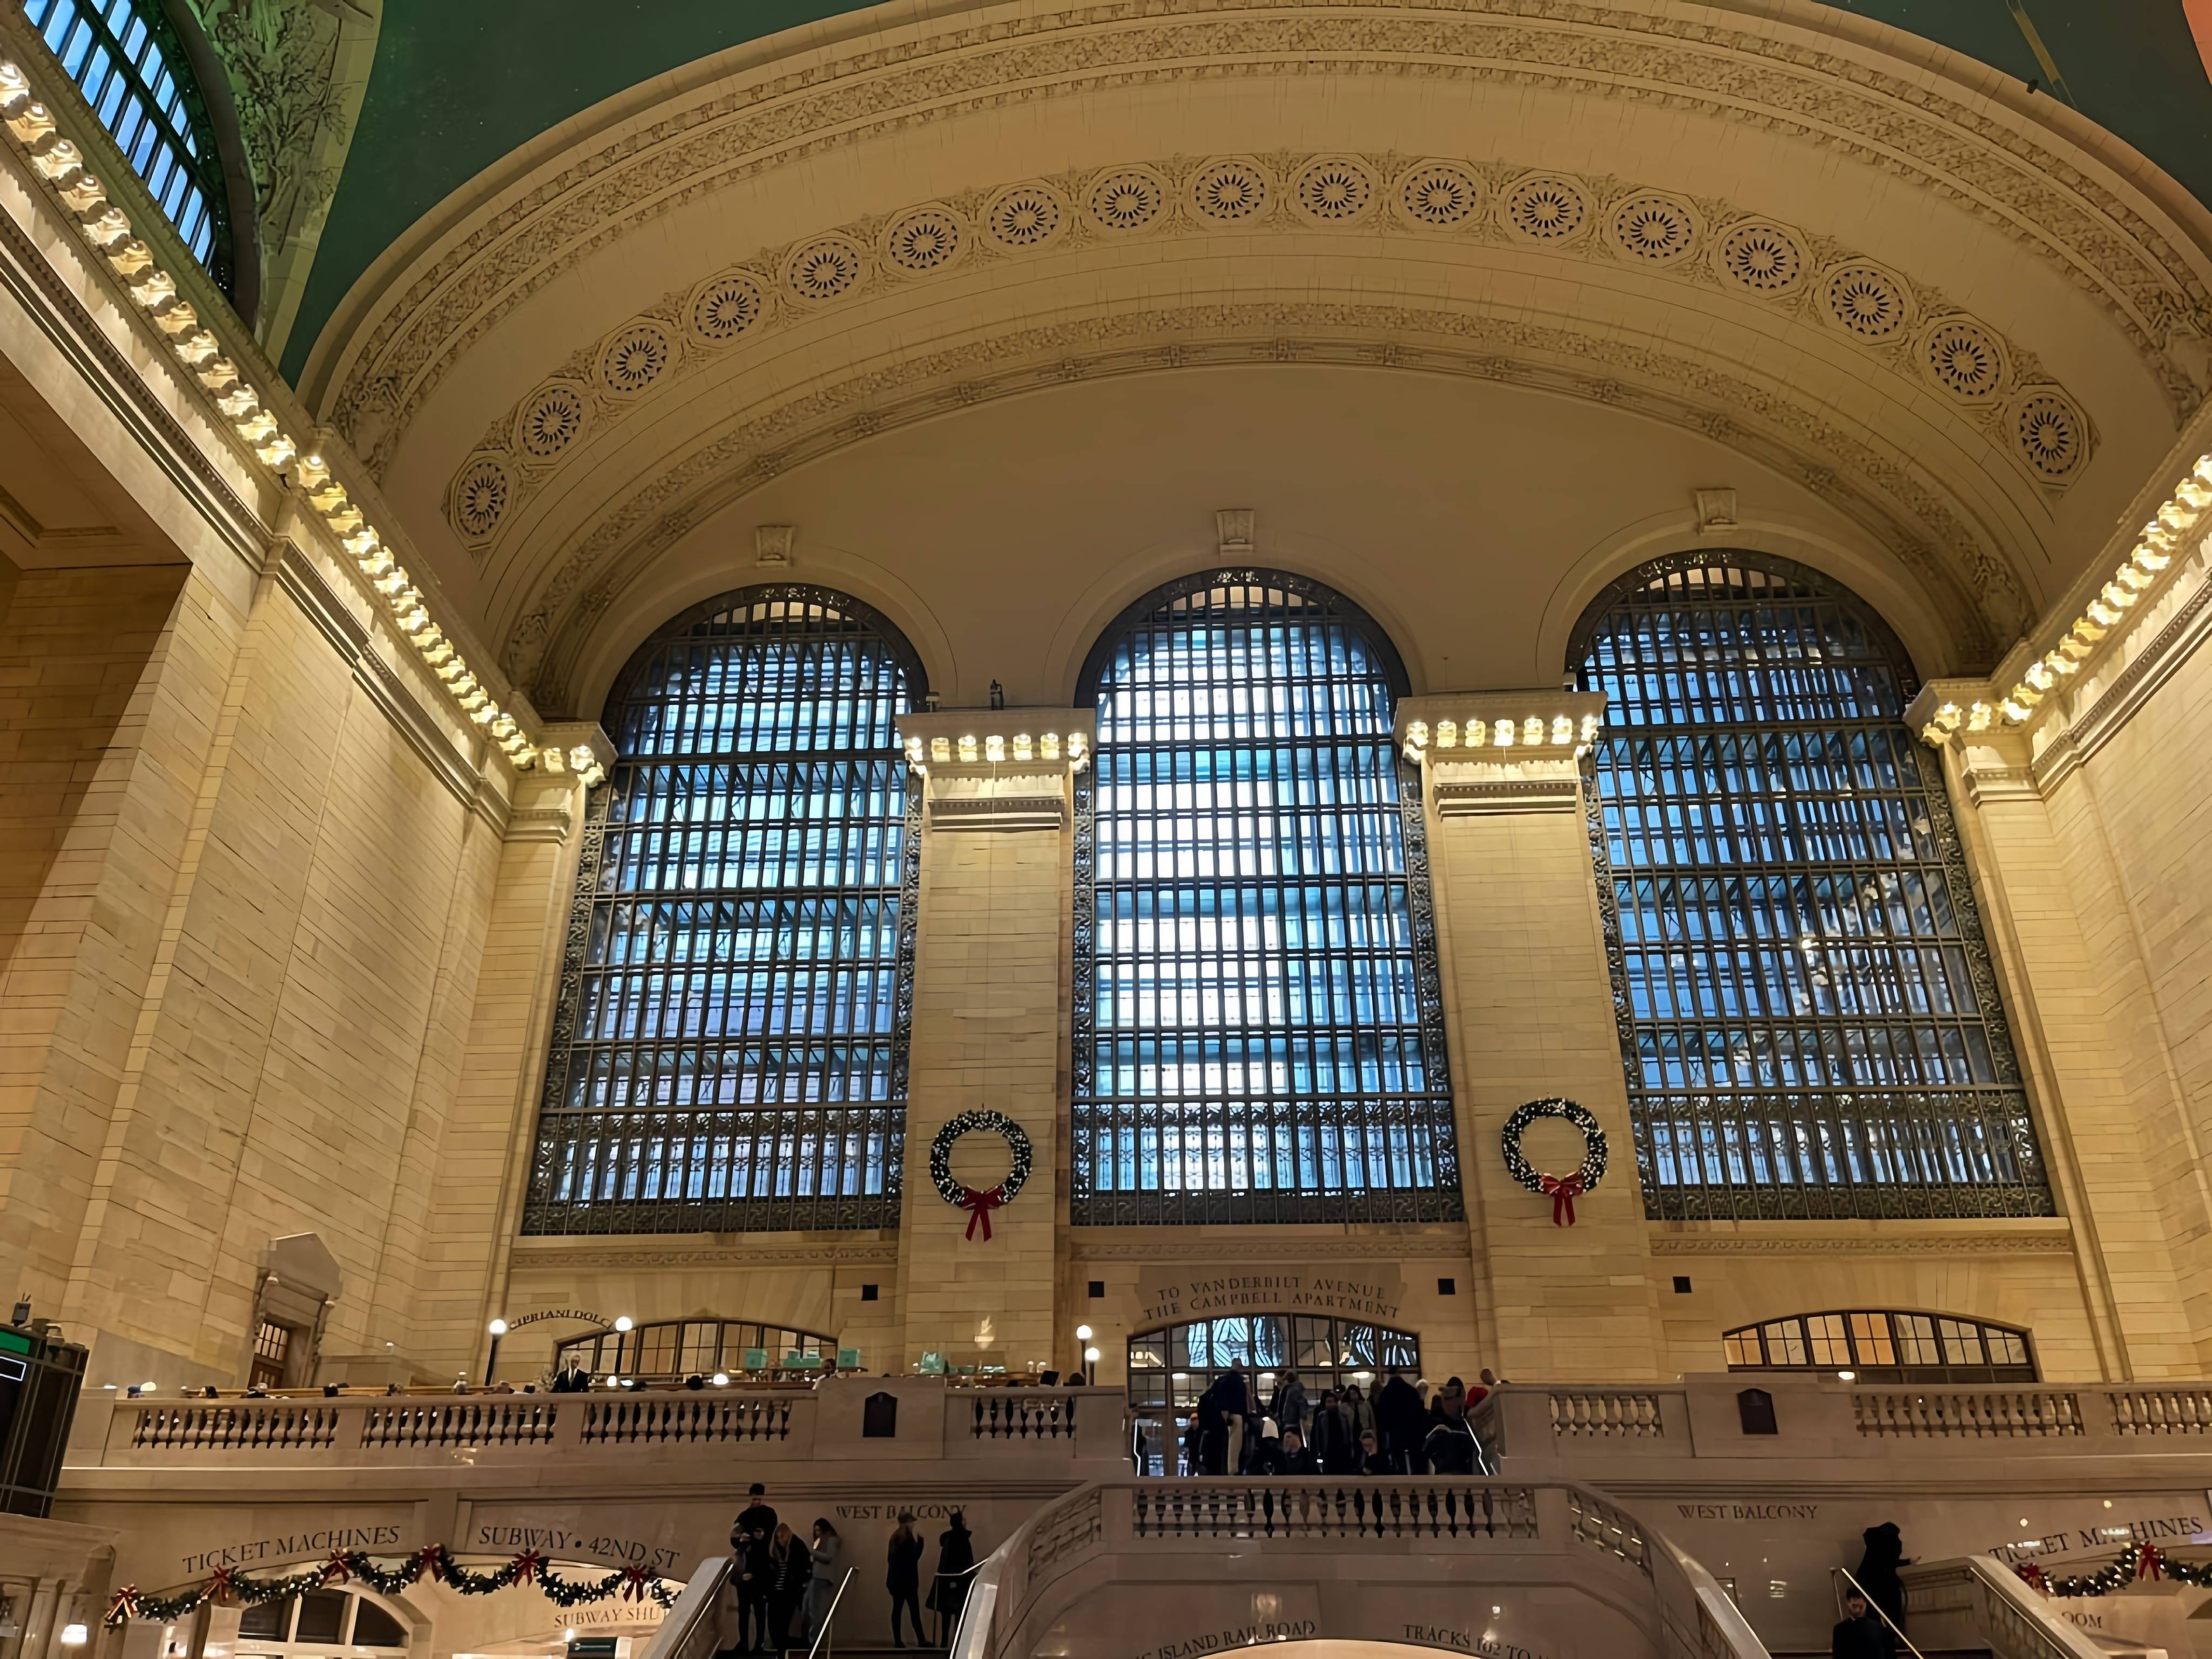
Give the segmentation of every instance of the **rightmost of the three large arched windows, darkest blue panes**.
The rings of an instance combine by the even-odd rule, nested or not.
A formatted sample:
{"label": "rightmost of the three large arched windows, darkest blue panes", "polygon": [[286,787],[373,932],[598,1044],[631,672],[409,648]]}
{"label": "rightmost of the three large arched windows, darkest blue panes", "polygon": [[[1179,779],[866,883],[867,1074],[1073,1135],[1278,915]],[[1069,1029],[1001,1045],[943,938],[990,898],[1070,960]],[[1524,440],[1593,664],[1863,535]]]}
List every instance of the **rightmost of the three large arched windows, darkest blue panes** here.
{"label": "rightmost of the three large arched windows, darkest blue panes", "polygon": [[1814,571],[1694,553],[1573,650],[1606,695],[1590,847],[1646,1212],[2051,1214],[1889,628]]}

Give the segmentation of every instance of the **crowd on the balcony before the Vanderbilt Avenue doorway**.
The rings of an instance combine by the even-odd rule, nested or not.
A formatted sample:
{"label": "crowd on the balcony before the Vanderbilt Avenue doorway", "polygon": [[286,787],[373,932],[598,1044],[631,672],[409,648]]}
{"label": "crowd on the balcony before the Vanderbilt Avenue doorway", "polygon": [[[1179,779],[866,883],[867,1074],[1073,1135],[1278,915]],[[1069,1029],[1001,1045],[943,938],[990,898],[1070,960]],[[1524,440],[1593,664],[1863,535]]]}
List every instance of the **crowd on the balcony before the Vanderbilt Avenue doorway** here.
{"label": "crowd on the balcony before the Vanderbilt Avenue doorway", "polygon": [[[1489,1473],[1469,1411],[1498,1378],[1433,1387],[1391,1369],[1310,1396],[1281,1371],[1270,1398],[1241,1367],[1221,1371],[1183,1425],[1183,1469],[1192,1475],[1473,1475]],[[1139,1467],[1144,1467],[1144,1447]]]}

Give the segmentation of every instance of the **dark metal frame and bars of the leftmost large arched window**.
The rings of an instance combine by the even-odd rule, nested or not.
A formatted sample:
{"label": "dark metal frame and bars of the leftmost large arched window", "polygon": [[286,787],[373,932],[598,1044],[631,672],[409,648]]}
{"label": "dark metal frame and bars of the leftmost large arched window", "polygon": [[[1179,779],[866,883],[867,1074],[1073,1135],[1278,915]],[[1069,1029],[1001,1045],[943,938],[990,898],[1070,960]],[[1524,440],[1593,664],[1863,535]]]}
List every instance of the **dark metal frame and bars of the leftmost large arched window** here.
{"label": "dark metal frame and bars of the leftmost large arched window", "polygon": [[[529,1194],[524,1199],[524,1234],[644,1234],[644,1232],[787,1232],[787,1230],[887,1230],[898,1225],[902,1166],[905,1166],[905,1119],[907,1119],[907,1064],[914,1029],[914,953],[916,953],[916,898],[920,891],[922,843],[920,810],[922,790],[916,787],[907,759],[898,745],[896,719],[922,706],[927,697],[927,675],[922,661],[905,635],[874,606],[854,599],[849,593],[799,582],[772,582],[721,593],[697,604],[653,630],[653,635],[630,655],[615,677],[606,699],[606,719],[622,726],[617,712],[624,710],[644,686],[644,677],[655,670],[659,655],[697,630],[732,617],[739,611],[759,606],[810,606],[849,624],[847,635],[825,633],[821,637],[865,637],[883,648],[889,664],[902,679],[902,701],[894,699],[887,745],[876,750],[858,748],[814,748],[814,750],[748,750],[730,752],[726,763],[759,765],[772,770],[783,763],[876,765],[883,768],[887,787],[900,792],[902,810],[894,818],[900,825],[900,847],[896,856],[898,880],[885,887],[838,889],[852,894],[896,894],[896,942],[889,958],[894,973],[889,1006],[889,1055],[883,1097],[867,1099],[816,1099],[792,1102],[737,1102],[712,1106],[577,1106],[568,1099],[573,1066],[586,1046],[577,1037],[584,1006],[586,971],[595,967],[593,949],[599,942],[595,916],[615,902],[701,902],[681,900],[677,889],[666,896],[659,889],[602,891],[608,880],[606,856],[611,841],[611,814],[633,770],[666,765],[670,754],[617,754],[606,783],[591,792],[586,803],[582,847],[577,858],[575,902],[568,914],[568,936],[562,951],[562,978],[555,1000],[553,1029],[546,1040],[546,1075],[540,1093],[535,1126],[535,1152],[531,1166]],[[752,626],[752,617],[748,624]],[[830,626],[827,622],[823,624]],[[799,635],[805,639],[807,635]],[[712,695],[697,699],[701,706]],[[622,734],[615,732],[617,743]],[[721,752],[686,750],[690,765],[712,765]],[[703,757],[703,759],[701,759]],[[759,759],[752,759],[759,757]],[[845,759],[841,759],[845,757]],[[737,799],[734,794],[728,799]],[[845,818],[843,823],[854,823]],[[779,887],[717,887],[712,891],[732,909],[757,898],[781,896],[792,907],[825,902],[832,889],[807,885]],[[712,902],[712,900],[706,900]],[[759,922],[779,925],[779,922]],[[816,929],[832,922],[814,920]],[[772,973],[772,960],[768,971]],[[880,969],[876,969],[880,971]],[[741,1042],[741,1040],[739,1040]],[[783,1033],[783,1046],[803,1048],[807,1037]],[[655,1048],[653,1064],[675,1066],[681,1075],[681,1057],[692,1048],[701,1053],[714,1044],[730,1046],[721,1033],[699,1037],[661,1037],[628,1044],[644,1053]],[[606,1044],[602,1044],[606,1046]],[[765,1048],[765,1040],[763,1040]],[[611,1060],[611,1064],[615,1064]],[[637,1062],[633,1060],[633,1066]],[[719,1064],[719,1062],[717,1062]],[[765,1062],[763,1062],[765,1064]],[[635,1073],[633,1073],[635,1075]],[[717,1073],[719,1075],[719,1073]],[[745,1075],[741,1068],[739,1075]],[[801,1075],[785,1073],[779,1075]],[[827,1075],[827,1073],[825,1073]],[[794,1150],[796,1148],[796,1150]],[[664,1168],[666,1166],[666,1168]],[[869,1170],[880,1172],[874,1190],[847,1190],[854,1168],[860,1170],[860,1186],[869,1186]],[[582,1177],[580,1177],[582,1170]],[[591,1186],[650,1186],[664,1188],[670,1181],[686,1186],[726,1188],[757,1183],[761,1172],[772,1181],[770,1192],[745,1192],[741,1197],[573,1197],[582,1179]],[[717,1175],[719,1172],[719,1175]],[[825,1183],[834,1190],[823,1190]]]}

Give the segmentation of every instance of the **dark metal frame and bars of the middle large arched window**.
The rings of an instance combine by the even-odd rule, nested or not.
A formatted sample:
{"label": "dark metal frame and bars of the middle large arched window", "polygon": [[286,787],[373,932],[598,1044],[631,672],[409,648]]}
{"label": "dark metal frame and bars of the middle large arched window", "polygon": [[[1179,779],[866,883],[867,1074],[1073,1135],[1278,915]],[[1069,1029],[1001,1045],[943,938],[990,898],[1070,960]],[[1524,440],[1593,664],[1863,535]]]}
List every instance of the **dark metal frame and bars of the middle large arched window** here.
{"label": "dark metal frame and bars of the middle large arched window", "polygon": [[[1347,635],[1354,635],[1360,646],[1365,646],[1374,679],[1387,692],[1389,703],[1407,695],[1407,672],[1398,648],[1391,644],[1389,635],[1374,622],[1356,602],[1329,588],[1327,584],[1314,582],[1310,577],[1294,575],[1290,571],[1254,568],[1254,566],[1210,566],[1192,575],[1166,582],[1130,606],[1126,606],[1110,626],[1106,626],[1097,641],[1093,644],[1082,677],[1077,681],[1077,706],[1097,708],[1106,672],[1115,664],[1115,653],[1124,641],[1137,630],[1155,624],[1161,615],[1170,613],[1179,602],[1192,595],[1210,593],[1217,588],[1259,588],[1265,595],[1296,597],[1301,604],[1314,606],[1318,619],[1340,624]],[[1267,602],[1267,613],[1276,611],[1274,602]],[[1197,741],[1192,741],[1197,743]],[[1093,1159],[1095,1159],[1095,1137],[1115,1130],[1135,1128],[1139,1135],[1146,1133],[1141,1115],[1157,1108],[1161,1102],[1135,1099],[1135,1102],[1113,1102],[1095,1093],[1097,1084],[1097,1006],[1099,1006],[1099,825],[1097,825],[1097,790],[1099,776],[1115,765],[1117,745],[1110,739],[1110,723],[1102,719],[1097,741],[1093,743],[1093,765],[1077,776],[1075,783],[1075,927],[1073,927],[1073,1006],[1071,1006],[1071,1221],[1075,1225],[1201,1225],[1201,1223],[1336,1223],[1336,1221],[1460,1221],[1467,1214],[1464,1197],[1460,1190],[1460,1155],[1458,1155],[1458,1121],[1451,1093],[1451,1060],[1444,1037],[1444,998],[1442,982],[1436,960],[1436,914],[1431,905],[1429,887],[1429,845],[1427,827],[1422,823],[1422,787],[1420,774],[1396,750],[1394,732],[1389,730],[1389,719],[1371,734],[1329,734],[1321,737],[1294,737],[1294,739],[1212,739],[1210,748],[1234,745],[1234,748],[1274,748],[1285,752],[1294,745],[1310,743],[1321,750],[1329,745],[1367,745],[1380,748],[1383,772],[1376,776],[1396,792],[1396,814],[1394,827],[1400,838],[1400,874],[1385,876],[1383,883],[1396,883],[1402,878],[1405,905],[1407,905],[1407,931],[1409,931],[1409,953],[1411,953],[1411,984],[1416,1002],[1416,1020],[1411,1026],[1394,1026],[1394,1031],[1409,1031],[1416,1046],[1416,1062],[1427,1077],[1427,1088],[1400,1091],[1400,1097],[1387,1097],[1387,1091],[1360,1091],[1358,1106],[1374,1115],[1396,1113],[1396,1121],[1358,1121],[1352,1110],[1340,1104],[1343,1097],[1321,1095],[1316,1102],[1318,1115],[1314,1117],[1314,1128],[1325,1137],[1327,1133],[1343,1133],[1345,1128],[1363,1130],[1367,1141],[1380,1137],[1391,1146],[1389,1137],[1394,1133],[1407,1133],[1411,1144],[1416,1137],[1409,1130],[1425,1130],[1427,1144],[1418,1152],[1409,1150],[1405,1157],[1409,1166],[1427,1161],[1431,1179],[1427,1186],[1378,1186],[1378,1183],[1354,1183],[1347,1179],[1340,1188],[1329,1190],[1325,1186],[1221,1186],[1221,1188],[1164,1188],[1144,1186],[1139,1172],[1135,1188],[1106,1188],[1099,1190],[1093,1183]],[[1133,752],[1164,752],[1177,750],[1181,745],[1148,745]],[[1376,885],[1374,878],[1345,874],[1334,878],[1338,887],[1349,887],[1356,880],[1367,880]],[[1124,883],[1133,891],[1144,885],[1139,880]],[[1254,891],[1287,891],[1287,883],[1281,876],[1237,876],[1228,880],[1201,878],[1203,891],[1221,889],[1254,889]],[[1155,889],[1157,891],[1157,889]],[[1369,911],[1371,914],[1371,911]],[[1336,1035],[1340,1029],[1334,1024],[1279,1024],[1267,1026],[1267,1031],[1283,1031],[1290,1035],[1307,1035],[1321,1040]],[[1380,1026],[1378,1026],[1380,1031]],[[1141,1042],[1141,1037],[1133,1037]],[[1203,1130],[1219,1135],[1223,1144],[1230,1144],[1243,1130],[1243,1139],[1250,1144],[1250,1117],[1256,1113],[1234,1110],[1237,1099],[1252,1099],[1274,1121],[1263,1124],[1274,1146],[1263,1146],[1261,1155],[1274,1155],[1283,1159],[1281,1133],[1296,1137],[1298,1128],[1305,1124],[1285,1121],[1290,1115],[1298,1113],[1298,1104],[1287,1104],[1285,1097],[1219,1097],[1217,1102],[1199,1102],[1199,1106],[1217,1106],[1217,1110],[1203,1119]],[[1232,1110],[1219,1110],[1228,1106]],[[1113,1121],[1113,1115],[1121,1115],[1126,1121]],[[1418,1119],[1418,1121],[1416,1121]],[[1150,1119],[1159,1124],[1155,1115]],[[1188,1119],[1183,1119],[1188,1124]],[[1250,1148],[1243,1150],[1243,1161],[1250,1164]],[[1367,1161],[1396,1161],[1398,1152],[1391,1150],[1378,1159],[1378,1155],[1365,1148]],[[1225,1150],[1223,1159],[1232,1166],[1239,1152]],[[1141,1161],[1141,1159],[1139,1159]],[[1157,1166],[1155,1166],[1157,1168]],[[1281,1161],[1276,1164],[1281,1172]]]}

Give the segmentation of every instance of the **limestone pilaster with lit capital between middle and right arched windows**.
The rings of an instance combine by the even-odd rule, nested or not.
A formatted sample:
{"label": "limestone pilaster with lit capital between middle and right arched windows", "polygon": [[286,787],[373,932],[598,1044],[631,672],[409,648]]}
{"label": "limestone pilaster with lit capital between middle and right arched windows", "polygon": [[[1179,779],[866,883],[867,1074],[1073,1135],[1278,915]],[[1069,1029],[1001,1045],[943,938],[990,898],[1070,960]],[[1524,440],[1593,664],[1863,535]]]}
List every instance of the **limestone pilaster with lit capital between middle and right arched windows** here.
{"label": "limestone pilaster with lit capital between middle and right arched windows", "polygon": [[[1604,717],[1588,692],[1413,697],[1398,739],[1420,763],[1460,1179],[1495,1367],[1635,1378],[1657,1363],[1613,982],[1593,883],[1579,757]],[[1513,1108],[1564,1095],[1597,1115],[1610,1164],[1575,1225],[1506,1175]],[[1582,1137],[1540,1121],[1522,1150],[1566,1175]]]}

